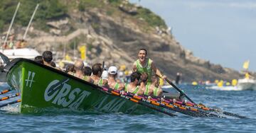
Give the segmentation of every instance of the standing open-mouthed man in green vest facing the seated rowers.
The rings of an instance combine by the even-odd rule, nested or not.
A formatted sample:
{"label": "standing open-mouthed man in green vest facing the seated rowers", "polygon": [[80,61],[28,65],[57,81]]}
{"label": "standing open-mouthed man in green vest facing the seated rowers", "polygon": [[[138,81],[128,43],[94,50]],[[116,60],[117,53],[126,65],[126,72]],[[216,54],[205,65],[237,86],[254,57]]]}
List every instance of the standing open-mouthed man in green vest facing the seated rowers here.
{"label": "standing open-mouthed man in green vest facing the seated rowers", "polygon": [[146,73],[148,74],[149,78],[147,82],[151,82],[151,76],[152,76],[152,71],[154,71],[154,73],[161,77],[161,79],[166,79],[166,76],[164,76],[163,74],[161,74],[161,71],[159,71],[159,69],[156,68],[154,62],[149,59],[146,58],[146,49],[140,49],[139,50],[139,54],[138,54],[138,58],[134,64],[133,64],[133,71],[137,71],[140,74]]}

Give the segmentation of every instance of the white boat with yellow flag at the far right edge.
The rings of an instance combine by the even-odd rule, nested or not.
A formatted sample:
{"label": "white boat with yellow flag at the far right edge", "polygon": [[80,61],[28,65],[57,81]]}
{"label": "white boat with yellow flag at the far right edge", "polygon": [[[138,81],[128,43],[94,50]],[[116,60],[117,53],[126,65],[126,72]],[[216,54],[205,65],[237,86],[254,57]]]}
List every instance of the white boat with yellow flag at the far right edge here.
{"label": "white boat with yellow flag at the far right edge", "polygon": [[247,69],[249,68],[250,61],[247,60],[243,64],[243,68],[245,69],[245,78],[238,79],[238,88],[240,90],[255,90],[256,91],[256,80],[254,77],[250,76]]}

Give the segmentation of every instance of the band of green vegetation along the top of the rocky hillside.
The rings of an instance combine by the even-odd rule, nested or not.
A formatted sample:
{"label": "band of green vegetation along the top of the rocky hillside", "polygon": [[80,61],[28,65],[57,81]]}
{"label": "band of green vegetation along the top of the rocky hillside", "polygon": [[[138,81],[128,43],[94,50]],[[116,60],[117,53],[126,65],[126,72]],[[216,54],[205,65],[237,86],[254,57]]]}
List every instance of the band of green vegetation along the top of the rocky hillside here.
{"label": "band of green vegetation along the top of the rocky hillside", "polygon": [[[90,8],[99,8],[101,11],[105,11],[107,16],[118,17],[124,13],[119,10],[119,5],[122,4],[123,0],[108,0],[105,3],[104,0],[19,0],[21,6],[18,10],[14,26],[28,25],[28,21],[31,18],[36,4],[40,4],[36,16],[33,20],[33,25],[41,30],[48,30],[49,27],[46,22],[49,20],[55,20],[63,16],[68,16],[73,9],[78,11],[87,11]],[[0,33],[6,30],[7,26],[11,23],[11,18],[14,15],[15,8],[18,4],[18,0],[3,0],[0,1]],[[128,7],[134,7],[133,4],[127,4]],[[127,14],[129,16],[129,14]],[[147,8],[137,8],[137,14],[135,16],[129,16],[135,21],[144,21],[143,27],[146,27],[145,23],[148,23],[149,27],[159,26],[166,28],[164,21],[152,13]],[[133,21],[134,21],[133,20]],[[139,23],[137,23],[139,25]],[[5,27],[4,27],[5,26]],[[142,26],[141,26],[142,27]]]}

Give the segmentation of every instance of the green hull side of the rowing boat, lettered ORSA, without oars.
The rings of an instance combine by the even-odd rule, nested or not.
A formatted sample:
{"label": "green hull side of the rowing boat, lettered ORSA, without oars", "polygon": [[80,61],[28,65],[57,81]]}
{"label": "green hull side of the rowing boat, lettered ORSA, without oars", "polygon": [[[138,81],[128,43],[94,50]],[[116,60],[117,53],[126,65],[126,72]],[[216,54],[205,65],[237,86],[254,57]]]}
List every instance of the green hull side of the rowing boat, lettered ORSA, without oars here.
{"label": "green hull side of the rowing boat, lettered ORSA, without oars", "polygon": [[[52,107],[127,114],[159,113],[102,91],[100,86],[28,59],[14,59],[7,79],[9,85],[21,93],[23,113]],[[165,109],[159,107],[159,110]]]}

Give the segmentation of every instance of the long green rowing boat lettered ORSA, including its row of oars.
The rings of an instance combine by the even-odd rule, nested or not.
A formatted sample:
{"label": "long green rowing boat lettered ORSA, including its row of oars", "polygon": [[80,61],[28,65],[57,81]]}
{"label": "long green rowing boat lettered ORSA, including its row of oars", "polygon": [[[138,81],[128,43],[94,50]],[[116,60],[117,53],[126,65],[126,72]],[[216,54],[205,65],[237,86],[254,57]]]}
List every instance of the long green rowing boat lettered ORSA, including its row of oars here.
{"label": "long green rowing boat lettered ORSA, including its row of oars", "polygon": [[[1,69],[1,76],[6,76],[9,86],[18,91],[18,94],[8,98],[21,95],[21,100],[2,104],[0,108],[8,104],[21,102],[21,113],[38,112],[38,110],[46,108],[70,108],[72,110],[122,112],[126,114],[164,113],[176,116],[174,112],[180,112],[193,117],[230,116],[245,118],[231,112],[194,103],[168,79],[166,81],[190,102],[159,97],[135,96],[133,93],[96,86],[63,71],[38,64],[29,59],[17,58],[10,62],[8,57],[1,52],[0,56],[6,63],[4,69]],[[9,92],[9,90],[1,93],[6,92]]]}

